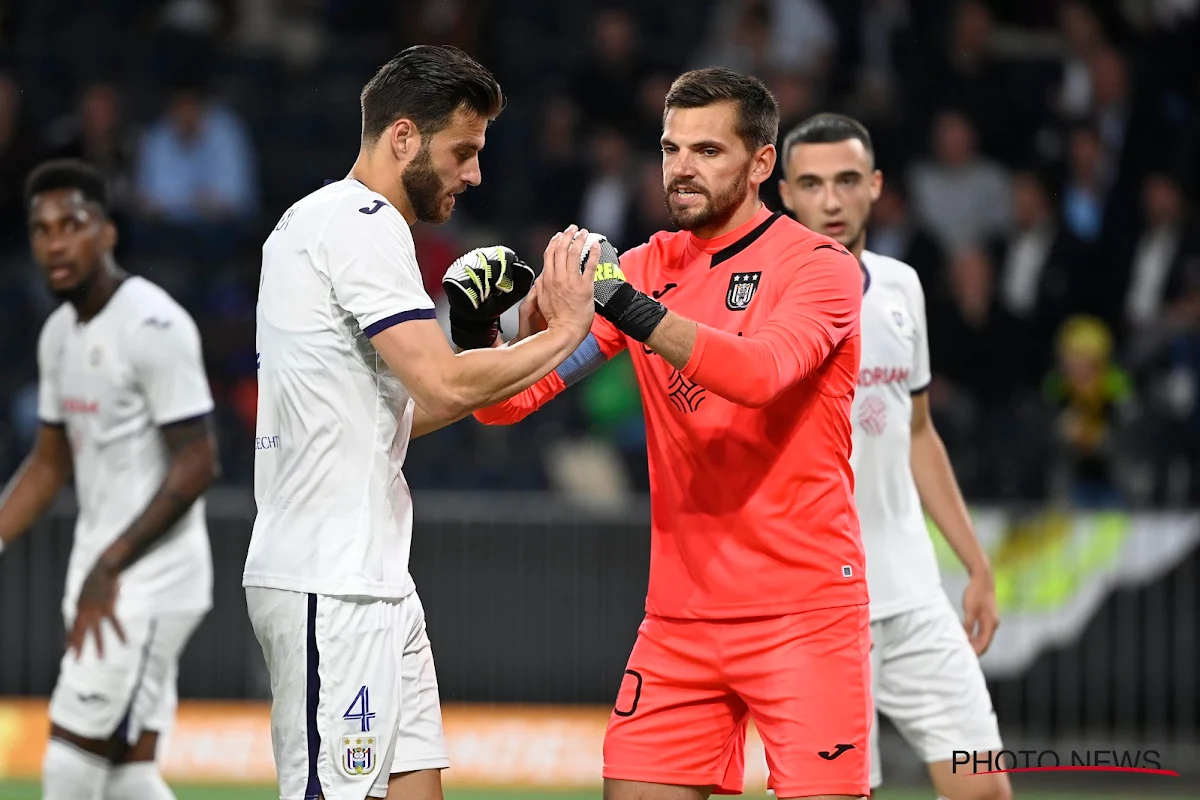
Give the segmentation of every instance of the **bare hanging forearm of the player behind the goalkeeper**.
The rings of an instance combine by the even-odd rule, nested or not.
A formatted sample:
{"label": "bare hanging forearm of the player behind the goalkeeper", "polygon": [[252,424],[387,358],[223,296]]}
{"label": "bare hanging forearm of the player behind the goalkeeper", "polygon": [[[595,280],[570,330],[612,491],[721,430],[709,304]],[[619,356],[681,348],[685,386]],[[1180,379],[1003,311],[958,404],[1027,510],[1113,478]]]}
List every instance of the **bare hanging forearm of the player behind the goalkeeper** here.
{"label": "bare hanging forearm of the player behind the goalkeeper", "polygon": [[962,566],[972,577],[990,575],[988,554],[974,535],[971,512],[954,477],[954,467],[932,423],[913,432],[911,463],[920,504]]}

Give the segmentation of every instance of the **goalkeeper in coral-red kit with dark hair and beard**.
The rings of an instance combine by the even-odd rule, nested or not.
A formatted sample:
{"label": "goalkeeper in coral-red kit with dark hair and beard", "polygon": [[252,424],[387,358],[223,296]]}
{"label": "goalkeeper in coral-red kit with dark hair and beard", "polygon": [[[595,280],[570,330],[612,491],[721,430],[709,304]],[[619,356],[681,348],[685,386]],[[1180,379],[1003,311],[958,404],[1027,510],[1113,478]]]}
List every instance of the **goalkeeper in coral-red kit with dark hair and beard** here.
{"label": "goalkeeper in coral-red kit with dark hair and beard", "polygon": [[[629,349],[646,409],[646,619],[608,723],[610,800],[743,787],[752,716],[779,798],[868,794],[870,638],[850,468],[862,276],[772,212],[779,110],[755,78],[680,76],[662,119],[678,233],[596,270],[598,319],[516,422]],[[522,307],[541,327],[536,289]]]}

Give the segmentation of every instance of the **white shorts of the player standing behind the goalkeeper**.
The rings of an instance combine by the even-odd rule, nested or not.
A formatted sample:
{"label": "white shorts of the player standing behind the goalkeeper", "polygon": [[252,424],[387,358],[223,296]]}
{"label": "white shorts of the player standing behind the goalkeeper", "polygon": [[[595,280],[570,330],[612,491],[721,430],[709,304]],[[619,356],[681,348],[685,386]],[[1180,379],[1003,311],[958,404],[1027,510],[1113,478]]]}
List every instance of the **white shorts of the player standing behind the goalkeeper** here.
{"label": "white shorts of the player standing behind the goalkeeper", "polygon": [[871,640],[872,789],[883,781],[880,714],[926,764],[950,760],[955,750],[1001,750],[979,658],[949,599],[871,622]]}

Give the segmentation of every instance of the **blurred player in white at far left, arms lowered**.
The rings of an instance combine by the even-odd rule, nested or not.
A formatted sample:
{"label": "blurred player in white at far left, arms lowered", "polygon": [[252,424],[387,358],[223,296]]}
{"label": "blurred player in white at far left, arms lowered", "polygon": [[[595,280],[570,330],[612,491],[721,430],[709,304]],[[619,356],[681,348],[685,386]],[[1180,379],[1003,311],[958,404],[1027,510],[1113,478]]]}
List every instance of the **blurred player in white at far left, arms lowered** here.
{"label": "blurred player in white at far left, arms lowered", "polygon": [[42,796],[164,800],[158,736],[212,595],[200,495],[217,465],[200,337],[166,291],[114,261],[96,170],[46,162],[25,199],[34,258],[62,305],[37,344],[41,428],[0,498],[0,548],[72,476],[79,505]]}

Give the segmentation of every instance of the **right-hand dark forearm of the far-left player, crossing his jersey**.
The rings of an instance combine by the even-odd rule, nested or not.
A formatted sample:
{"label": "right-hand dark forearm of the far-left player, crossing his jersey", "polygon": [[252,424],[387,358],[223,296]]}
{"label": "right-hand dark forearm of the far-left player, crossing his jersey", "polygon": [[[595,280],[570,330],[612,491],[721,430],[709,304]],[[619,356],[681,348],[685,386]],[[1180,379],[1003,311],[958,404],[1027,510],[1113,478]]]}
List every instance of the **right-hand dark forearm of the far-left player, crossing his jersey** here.
{"label": "right-hand dark forearm of the far-left player, crossing his jersey", "polygon": [[216,445],[206,420],[168,434],[167,446],[172,451],[170,465],[158,491],[100,557],[104,566],[116,572],[136,564],[174,528],[217,477]]}

